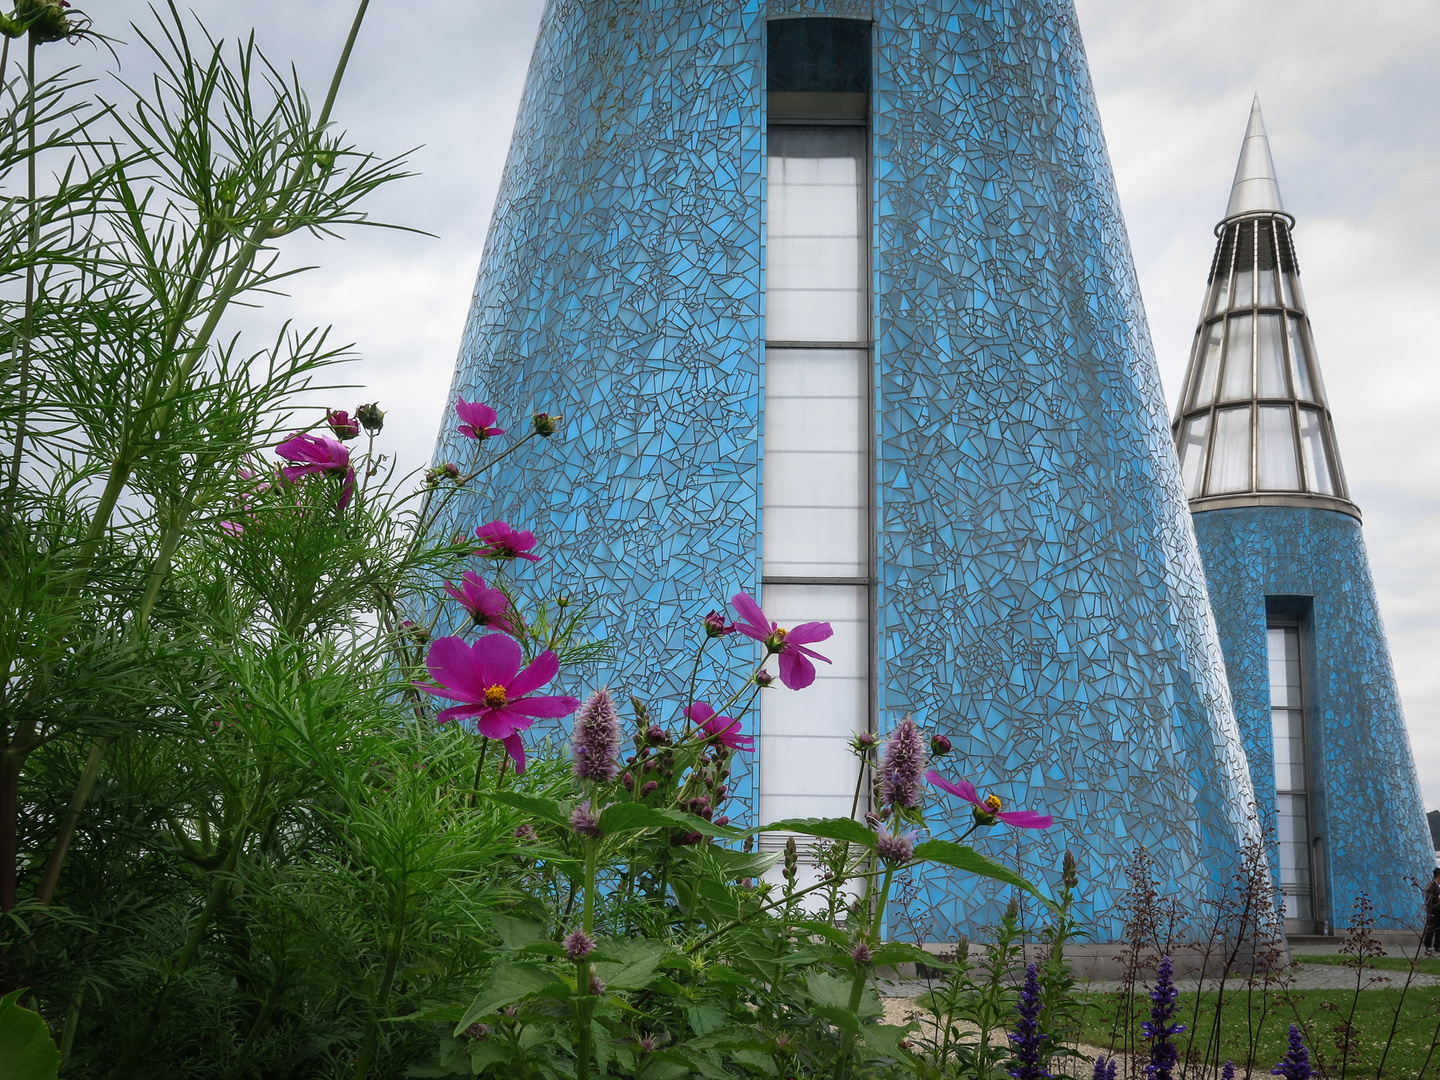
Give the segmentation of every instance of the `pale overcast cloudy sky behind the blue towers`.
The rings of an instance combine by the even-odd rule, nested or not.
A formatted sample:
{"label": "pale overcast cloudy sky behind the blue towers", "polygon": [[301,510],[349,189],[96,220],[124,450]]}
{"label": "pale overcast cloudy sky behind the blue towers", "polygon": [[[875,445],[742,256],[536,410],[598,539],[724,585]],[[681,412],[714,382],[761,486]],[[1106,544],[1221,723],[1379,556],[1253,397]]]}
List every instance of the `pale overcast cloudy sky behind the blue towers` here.
{"label": "pale overcast cloudy sky behind the blue towers", "polygon": [[[89,0],[134,40],[137,0]],[[324,92],[353,0],[196,0]],[[295,251],[323,269],[276,317],[334,324],[402,464],[426,462],[540,17],[540,0],[377,0],[336,118],[360,147],[415,148],[372,202],[433,238],[361,230]],[[1248,114],[1260,94],[1352,495],[1427,804],[1440,808],[1440,4],[1433,0],[1079,0],[1174,402]],[[145,65],[120,46],[127,69]],[[55,55],[55,53],[52,53]],[[104,56],[75,59],[104,63]]]}

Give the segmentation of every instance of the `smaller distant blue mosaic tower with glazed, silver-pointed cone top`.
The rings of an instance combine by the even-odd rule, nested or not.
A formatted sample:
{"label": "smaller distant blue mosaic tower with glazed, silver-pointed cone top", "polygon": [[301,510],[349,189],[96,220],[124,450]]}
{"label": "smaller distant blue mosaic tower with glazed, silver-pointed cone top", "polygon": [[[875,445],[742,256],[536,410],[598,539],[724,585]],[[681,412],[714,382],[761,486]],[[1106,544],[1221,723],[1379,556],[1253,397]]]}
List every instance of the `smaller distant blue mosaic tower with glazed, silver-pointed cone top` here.
{"label": "smaller distant blue mosaic tower with glazed, silver-pointed cone top", "polygon": [[1254,102],[1175,416],[1286,929],[1414,926],[1434,865],[1361,514]]}

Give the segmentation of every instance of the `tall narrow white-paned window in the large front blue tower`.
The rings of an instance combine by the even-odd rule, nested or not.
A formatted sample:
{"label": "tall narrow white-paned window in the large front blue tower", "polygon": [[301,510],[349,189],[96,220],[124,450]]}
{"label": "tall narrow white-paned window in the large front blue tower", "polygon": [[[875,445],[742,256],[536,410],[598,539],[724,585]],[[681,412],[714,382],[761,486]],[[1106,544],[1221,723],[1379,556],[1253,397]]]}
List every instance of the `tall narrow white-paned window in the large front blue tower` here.
{"label": "tall narrow white-paned window in the large front blue tower", "polygon": [[760,694],[762,821],[847,816],[870,729],[868,89],[870,23],[770,22],[762,599],[835,635]]}

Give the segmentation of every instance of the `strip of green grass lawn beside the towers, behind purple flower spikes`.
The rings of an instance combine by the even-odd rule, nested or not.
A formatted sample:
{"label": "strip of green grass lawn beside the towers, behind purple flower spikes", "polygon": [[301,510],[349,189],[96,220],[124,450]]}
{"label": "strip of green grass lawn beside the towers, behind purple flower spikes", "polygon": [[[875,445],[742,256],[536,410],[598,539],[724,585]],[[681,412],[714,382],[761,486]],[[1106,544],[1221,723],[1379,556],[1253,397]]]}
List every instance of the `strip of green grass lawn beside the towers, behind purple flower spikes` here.
{"label": "strip of green grass lawn beside the towers, behind purple flower spikes", "polygon": [[[1362,991],[1355,1007],[1354,1027],[1358,1037],[1354,1044],[1346,1079],[1375,1080],[1381,1054],[1390,1028],[1395,1020],[1395,1005],[1400,1001],[1400,989],[1371,989]],[[1208,1061],[1223,1064],[1227,1060],[1236,1063],[1236,1076],[1246,1076],[1247,1063],[1253,1068],[1254,1077],[1269,1077],[1270,1068],[1280,1060],[1286,1050],[1286,1037],[1290,1024],[1296,1022],[1296,1015],[1310,1031],[1306,1045],[1310,1050],[1312,1063],[1323,1064],[1325,1071],[1318,1076],[1338,1080],[1339,1053],[1336,1037],[1344,1031],[1351,1004],[1356,995],[1352,991],[1296,991],[1289,996],[1272,996],[1267,1005],[1261,1005],[1259,994],[1247,1002],[1246,994],[1227,991],[1225,1008],[1220,1022],[1220,1044],[1211,1045],[1211,1035],[1215,1028],[1215,994],[1200,995],[1200,1015],[1195,1015],[1195,994],[1181,994],[1178,1020],[1191,1030],[1178,1037],[1181,1060]],[[1086,1002],[1084,1027],[1081,1040],[1090,1045],[1102,1048],[1115,1047],[1123,1051],[1122,1043],[1113,1043],[1115,1018],[1119,1007],[1115,994],[1089,994],[1083,996]],[[1143,1041],[1139,1038],[1142,1020],[1148,1020],[1149,999],[1138,996],[1133,1015],[1135,1038],[1132,1047],[1139,1047],[1143,1053]],[[1436,1050],[1426,1064],[1433,1040],[1436,1040],[1437,1025],[1440,1025],[1440,988],[1411,989],[1404,999],[1400,1022],[1395,1035],[1385,1056],[1381,1080],[1423,1080],[1440,1077],[1440,1050]],[[1251,1032],[1251,1027],[1256,1028]],[[1256,1050],[1251,1057],[1250,1047]],[[1421,1068],[1424,1073],[1421,1074]]]}

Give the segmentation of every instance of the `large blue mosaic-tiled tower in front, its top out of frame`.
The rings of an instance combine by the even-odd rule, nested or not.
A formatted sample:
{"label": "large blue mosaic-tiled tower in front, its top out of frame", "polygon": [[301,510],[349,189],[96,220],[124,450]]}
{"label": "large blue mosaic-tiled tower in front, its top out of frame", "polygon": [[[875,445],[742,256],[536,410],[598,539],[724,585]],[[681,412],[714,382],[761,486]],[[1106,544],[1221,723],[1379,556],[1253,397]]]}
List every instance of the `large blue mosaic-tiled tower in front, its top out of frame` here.
{"label": "large blue mosaic-tiled tower in front, its top out of frame", "polygon": [[[1073,850],[1097,940],[1139,845],[1228,877],[1250,779],[1068,3],[552,0],[455,396],[566,416],[441,527],[536,530],[616,649],[572,688],[674,720],[739,589],[835,624],[744,721],[752,819],[848,812],[848,734],[912,714],[1056,816],[976,842],[1051,887]],[[1007,900],[927,873],[897,932]]]}

